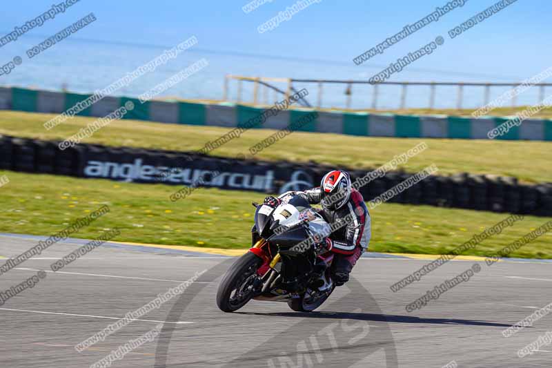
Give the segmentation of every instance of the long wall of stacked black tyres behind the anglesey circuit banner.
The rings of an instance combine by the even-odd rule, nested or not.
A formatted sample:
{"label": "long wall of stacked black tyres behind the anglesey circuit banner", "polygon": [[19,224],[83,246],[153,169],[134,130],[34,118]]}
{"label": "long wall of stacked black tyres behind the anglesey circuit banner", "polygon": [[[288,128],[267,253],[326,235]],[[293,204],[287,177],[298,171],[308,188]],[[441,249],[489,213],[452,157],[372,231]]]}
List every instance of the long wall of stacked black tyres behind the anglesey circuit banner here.
{"label": "long wall of stacked black tyres behind the anglesey circuit banner", "polygon": [[[143,165],[201,168],[210,171],[266,173],[274,171],[275,189],[282,188],[292,180],[295,171],[304,171],[311,176],[313,186],[335,168],[314,162],[295,164],[293,162],[262,162],[255,159],[228,159],[190,153],[160,151],[144,148],[112,148],[97,144],[78,144],[61,151],[59,142],[46,142],[18,137],[0,136],[0,170],[21,171],[85,177],[84,168],[88,161],[126,162],[133,164],[141,159]],[[107,168],[109,169],[109,168]],[[346,168],[345,168],[346,169]],[[368,171],[350,171],[351,180],[364,177]],[[411,173],[388,172],[359,188],[366,201],[397,186],[411,177]],[[308,176],[295,178],[293,189],[306,189]],[[152,182],[151,180],[134,180]],[[166,182],[166,184],[172,184]],[[263,189],[264,190],[264,189]],[[552,216],[552,183],[538,185],[520,184],[513,177],[494,175],[457,174],[452,176],[430,175],[421,182],[406,188],[388,202],[404,204],[428,204],[431,206],[475,209],[528,215]]]}

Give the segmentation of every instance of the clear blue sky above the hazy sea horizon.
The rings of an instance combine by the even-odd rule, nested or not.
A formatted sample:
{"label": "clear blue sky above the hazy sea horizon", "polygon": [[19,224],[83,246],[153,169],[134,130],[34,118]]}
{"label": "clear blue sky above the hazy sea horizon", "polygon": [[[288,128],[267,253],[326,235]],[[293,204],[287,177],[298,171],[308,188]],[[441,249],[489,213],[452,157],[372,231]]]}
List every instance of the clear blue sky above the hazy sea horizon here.
{"label": "clear blue sky above the hazy sea horizon", "polygon": [[[95,43],[93,49],[97,50],[98,45],[106,44],[110,45],[105,48],[109,50],[106,58],[112,56],[117,60],[124,57],[127,46],[170,48],[195,35],[199,42],[193,52],[209,55],[217,62],[220,73],[367,80],[437,36],[444,37],[442,46],[391,75],[388,81],[522,81],[552,64],[551,41],[544,31],[552,14],[549,0],[517,0],[451,39],[447,34],[451,28],[496,3],[467,0],[464,6],[444,14],[361,66],[353,63],[354,57],[449,1],[304,1],[311,5],[273,30],[259,33],[257,28],[262,23],[297,1],[271,0],[246,13],[242,7],[247,0],[81,0],[55,19],[30,30],[21,40],[26,45],[36,44],[93,12],[97,21],[72,35],[63,47],[71,46],[78,53],[81,49],[86,52],[89,47],[86,45]],[[52,3],[52,0],[4,2],[0,34],[6,35],[14,26],[37,17]],[[0,66],[10,61],[14,53],[21,52],[17,43],[19,40],[0,48]],[[144,58],[149,55],[146,53]],[[21,68],[19,77],[23,78],[25,72],[30,75],[34,71]]]}

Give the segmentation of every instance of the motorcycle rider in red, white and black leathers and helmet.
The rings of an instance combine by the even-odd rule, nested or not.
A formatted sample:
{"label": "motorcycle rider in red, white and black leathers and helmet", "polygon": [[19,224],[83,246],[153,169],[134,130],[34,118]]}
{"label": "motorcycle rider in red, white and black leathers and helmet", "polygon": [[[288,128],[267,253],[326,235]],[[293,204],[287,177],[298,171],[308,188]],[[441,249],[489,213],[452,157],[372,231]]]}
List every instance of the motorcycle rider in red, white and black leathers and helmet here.
{"label": "motorcycle rider in red, white and black leathers and helmet", "polygon": [[[333,280],[336,286],[343,285],[349,280],[349,273],[368,248],[371,238],[370,215],[362,194],[352,188],[351,177],[346,171],[334,170],[322,177],[319,187],[287,192],[279,197],[269,196],[264,199],[264,204],[276,207],[289,194],[301,195],[310,204],[321,204],[319,213],[328,224],[337,228],[326,238],[325,246],[334,253]],[[255,242],[258,239],[255,226],[251,231]]]}

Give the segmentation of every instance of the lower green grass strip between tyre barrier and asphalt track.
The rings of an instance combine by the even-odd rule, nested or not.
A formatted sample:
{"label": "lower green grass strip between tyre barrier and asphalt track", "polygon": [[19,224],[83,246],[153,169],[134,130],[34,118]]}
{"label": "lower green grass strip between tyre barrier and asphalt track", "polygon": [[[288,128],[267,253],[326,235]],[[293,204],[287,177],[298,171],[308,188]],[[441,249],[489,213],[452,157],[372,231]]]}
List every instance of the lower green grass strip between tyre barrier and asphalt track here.
{"label": "lower green grass strip between tyre barrier and asphalt track", "polygon": [[[157,244],[247,248],[253,224],[253,200],[261,193],[200,188],[189,197],[170,202],[178,186],[132,184],[52,175],[0,171],[10,182],[0,187],[0,232],[50,235],[72,220],[110,206],[110,213],[76,233],[96,238],[115,227],[116,240]],[[382,204],[371,211],[370,250],[397,253],[448,253],[500,222],[507,214],[431,206]],[[513,240],[551,220],[527,216],[500,235],[484,240],[466,255],[491,255]],[[552,258],[548,233],[512,254],[524,258]]]}

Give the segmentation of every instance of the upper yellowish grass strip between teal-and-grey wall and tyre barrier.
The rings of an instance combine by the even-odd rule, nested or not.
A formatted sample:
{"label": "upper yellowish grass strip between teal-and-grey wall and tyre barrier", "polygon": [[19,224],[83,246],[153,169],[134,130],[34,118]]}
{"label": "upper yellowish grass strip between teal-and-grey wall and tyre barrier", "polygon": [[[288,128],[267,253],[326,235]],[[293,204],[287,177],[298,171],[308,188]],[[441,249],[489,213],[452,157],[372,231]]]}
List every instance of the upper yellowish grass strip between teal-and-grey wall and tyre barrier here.
{"label": "upper yellowish grass strip between teal-and-grey wall and tyre barrier", "polygon": [[[61,140],[94,121],[90,117],[75,117],[52,130],[43,128],[42,124],[54,116],[0,111],[0,134]],[[122,120],[112,122],[83,142],[191,151],[226,132],[228,128]],[[231,140],[211,151],[211,154],[229,157],[246,154],[250,146],[273,133],[274,130],[268,129],[248,130],[239,139]],[[549,169],[552,142],[424,140],[296,132],[258,153],[255,158],[377,168],[420,142],[426,142],[428,149],[401,166],[404,170],[417,172],[430,164],[436,164],[441,175],[469,172],[513,176],[524,182],[552,182],[552,171]]]}

